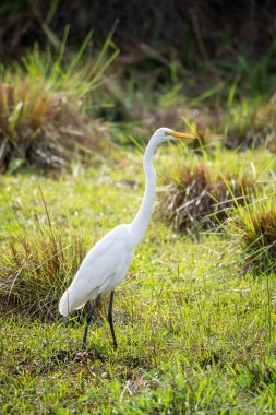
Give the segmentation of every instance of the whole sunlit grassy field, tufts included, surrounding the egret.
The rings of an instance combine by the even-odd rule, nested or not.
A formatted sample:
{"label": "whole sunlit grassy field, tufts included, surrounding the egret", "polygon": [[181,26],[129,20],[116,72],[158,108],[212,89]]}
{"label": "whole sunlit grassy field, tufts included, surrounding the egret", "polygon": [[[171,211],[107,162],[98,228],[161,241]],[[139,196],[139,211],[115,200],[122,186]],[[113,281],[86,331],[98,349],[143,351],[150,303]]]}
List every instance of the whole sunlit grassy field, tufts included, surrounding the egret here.
{"label": "whole sunlit grassy field, tufts included, surrounding the egret", "polygon": [[[32,69],[34,62],[29,64]],[[82,78],[72,86],[79,87],[75,96],[68,91],[71,68],[68,78],[60,78],[65,80],[61,86],[55,87],[60,69],[50,76],[51,87],[39,86],[47,96],[36,107],[35,126],[28,112],[21,112],[28,96],[16,86],[22,85],[21,71],[11,114],[0,88],[0,105],[8,112],[1,131],[4,145],[9,143],[1,147],[7,157],[0,177],[1,413],[275,414],[274,102],[268,107],[268,97],[261,102],[252,92],[236,100],[237,79],[192,100],[181,84],[148,90],[143,79],[137,86],[131,78],[121,84],[99,83],[89,103]],[[7,72],[4,76],[7,83]],[[93,82],[85,84],[87,91]],[[36,100],[38,90],[33,91]],[[101,92],[109,124],[95,121],[97,139],[89,147],[89,134],[95,134],[82,130],[83,117],[93,123],[103,112],[97,100]],[[56,117],[52,99],[62,96],[65,107]],[[83,99],[84,109],[69,130],[76,141],[85,134],[82,149],[74,158],[71,139],[70,155],[57,147],[52,152],[48,143],[46,153],[65,168],[57,170],[47,162],[53,170],[46,174],[40,150],[52,132],[57,140],[62,137],[55,145],[67,150],[67,132],[57,128],[71,122],[67,105],[74,107],[75,98]],[[122,122],[116,121],[118,108]],[[32,114],[32,106],[27,109]],[[87,351],[81,353],[85,310],[63,320],[58,300],[87,249],[134,217],[144,189],[143,151],[154,126],[170,122],[168,114],[173,120],[168,127],[191,130],[200,140],[195,146],[157,151],[155,214],[128,278],[116,289],[118,351],[104,298]],[[25,142],[19,152],[26,131],[32,140],[43,138],[40,153],[31,149],[40,157],[37,164],[28,158]]]}

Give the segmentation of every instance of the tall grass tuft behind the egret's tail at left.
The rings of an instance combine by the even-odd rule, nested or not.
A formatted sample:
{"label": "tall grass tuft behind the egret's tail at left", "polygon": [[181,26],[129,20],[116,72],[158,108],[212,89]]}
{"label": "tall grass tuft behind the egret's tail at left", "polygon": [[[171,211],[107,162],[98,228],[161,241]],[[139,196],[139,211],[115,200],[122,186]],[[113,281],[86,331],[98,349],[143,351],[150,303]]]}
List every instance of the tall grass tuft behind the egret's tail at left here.
{"label": "tall grass tuft behind the egret's tail at left", "polygon": [[47,224],[36,221],[33,233],[17,227],[5,242],[0,259],[0,307],[5,312],[55,320],[60,295],[85,256],[84,237],[56,228],[47,217]]}

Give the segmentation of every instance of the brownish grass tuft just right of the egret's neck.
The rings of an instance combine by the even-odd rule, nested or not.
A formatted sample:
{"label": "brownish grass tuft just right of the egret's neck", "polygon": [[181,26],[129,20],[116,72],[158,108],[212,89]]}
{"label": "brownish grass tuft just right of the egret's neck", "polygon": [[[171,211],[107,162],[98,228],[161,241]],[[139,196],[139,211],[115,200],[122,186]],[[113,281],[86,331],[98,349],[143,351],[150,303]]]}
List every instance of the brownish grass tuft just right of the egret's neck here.
{"label": "brownish grass tuft just right of the egret's neck", "polygon": [[255,189],[252,175],[213,171],[205,164],[185,166],[170,179],[163,194],[166,218],[181,232],[216,227],[228,217],[235,204],[244,204]]}

